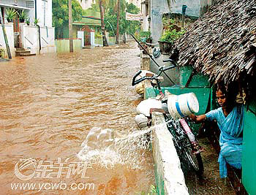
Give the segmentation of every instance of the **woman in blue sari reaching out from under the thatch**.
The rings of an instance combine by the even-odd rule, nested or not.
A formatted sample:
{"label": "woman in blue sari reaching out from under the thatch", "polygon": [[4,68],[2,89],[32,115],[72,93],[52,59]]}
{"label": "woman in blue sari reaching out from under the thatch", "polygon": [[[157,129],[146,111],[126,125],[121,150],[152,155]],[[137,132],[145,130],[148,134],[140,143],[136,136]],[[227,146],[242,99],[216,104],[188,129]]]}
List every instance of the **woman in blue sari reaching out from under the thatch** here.
{"label": "woman in blue sari reaching out from under the thatch", "polygon": [[[231,91],[230,91],[231,92]],[[192,121],[217,121],[219,136],[219,175],[227,177],[227,163],[236,169],[241,169],[242,142],[244,129],[244,104],[237,104],[236,93],[226,91],[225,85],[217,85],[217,102],[220,107],[205,115],[190,115]]]}

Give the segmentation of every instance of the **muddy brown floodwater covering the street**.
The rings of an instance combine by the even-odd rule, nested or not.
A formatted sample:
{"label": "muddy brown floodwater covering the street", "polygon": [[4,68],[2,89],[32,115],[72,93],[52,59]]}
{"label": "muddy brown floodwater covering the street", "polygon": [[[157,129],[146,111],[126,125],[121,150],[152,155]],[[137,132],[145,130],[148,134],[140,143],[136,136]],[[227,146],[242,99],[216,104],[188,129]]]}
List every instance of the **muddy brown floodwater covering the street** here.
{"label": "muddy brown floodwater covering the street", "polygon": [[[125,153],[121,156],[124,161],[115,155],[107,162],[95,158],[87,164],[89,168],[83,175],[86,177],[81,172],[69,172],[67,177],[70,169],[64,170],[65,166],[60,165],[60,161],[66,161],[70,168],[82,161],[78,153],[91,129],[111,129],[118,134],[137,131],[135,108],[141,99],[131,81],[140,67],[139,53],[132,43],[1,62],[0,194],[150,191],[154,167],[151,151],[147,149],[127,150],[129,158]],[[96,145],[100,146],[100,140]],[[34,161],[28,163],[29,158]],[[20,159],[25,163],[21,164]],[[33,177],[20,180],[15,164],[22,175]],[[35,183],[36,188],[15,190],[13,183]],[[53,190],[52,183],[65,183],[67,188]],[[79,183],[93,183],[94,189],[84,189],[82,184],[78,189]],[[75,185],[70,188],[72,184]],[[45,188],[39,191],[39,185]]]}

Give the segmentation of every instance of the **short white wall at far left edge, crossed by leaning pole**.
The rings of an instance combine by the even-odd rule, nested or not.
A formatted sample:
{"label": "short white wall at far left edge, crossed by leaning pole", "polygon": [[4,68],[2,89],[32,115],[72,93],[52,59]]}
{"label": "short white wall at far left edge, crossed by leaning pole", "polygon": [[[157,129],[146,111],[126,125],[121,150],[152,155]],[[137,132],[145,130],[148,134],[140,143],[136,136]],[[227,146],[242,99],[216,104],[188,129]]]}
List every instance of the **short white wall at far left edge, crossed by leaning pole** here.
{"label": "short white wall at far left edge, crossed by leaning pole", "polygon": [[[11,54],[12,56],[15,56],[13,24],[12,23],[5,24],[4,28],[7,34],[8,45],[10,47]],[[3,29],[1,28],[1,25],[0,25],[0,48],[5,50],[5,57],[7,58],[7,50],[6,50],[6,45],[4,41]]]}

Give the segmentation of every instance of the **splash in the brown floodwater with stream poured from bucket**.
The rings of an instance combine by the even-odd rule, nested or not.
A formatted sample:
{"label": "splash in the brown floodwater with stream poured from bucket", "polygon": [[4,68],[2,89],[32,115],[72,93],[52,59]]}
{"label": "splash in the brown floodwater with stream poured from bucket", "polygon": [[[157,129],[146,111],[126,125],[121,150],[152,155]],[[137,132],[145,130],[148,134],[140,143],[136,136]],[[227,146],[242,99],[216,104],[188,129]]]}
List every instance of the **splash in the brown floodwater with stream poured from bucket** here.
{"label": "splash in the brown floodwater with stream poured from bucket", "polygon": [[140,169],[142,157],[150,150],[151,129],[123,132],[94,127],[81,145],[78,158],[106,168],[126,164],[132,169]]}

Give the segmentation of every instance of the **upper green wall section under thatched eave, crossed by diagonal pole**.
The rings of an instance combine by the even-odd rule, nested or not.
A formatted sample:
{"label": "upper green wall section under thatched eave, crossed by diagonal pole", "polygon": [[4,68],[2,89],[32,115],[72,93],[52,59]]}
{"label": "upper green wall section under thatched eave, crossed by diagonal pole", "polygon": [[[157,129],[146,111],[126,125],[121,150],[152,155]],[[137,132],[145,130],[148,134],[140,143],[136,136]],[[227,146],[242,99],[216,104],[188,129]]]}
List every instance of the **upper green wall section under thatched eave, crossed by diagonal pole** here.
{"label": "upper green wall section under thatched eave, crossed by diagonal pole", "polygon": [[[190,75],[192,74],[193,67],[192,66],[181,66],[180,67],[180,83],[181,87],[185,87],[187,81],[189,80]],[[210,83],[208,81],[208,77],[201,73],[194,74],[192,80],[190,81],[188,87],[209,87]]]}

